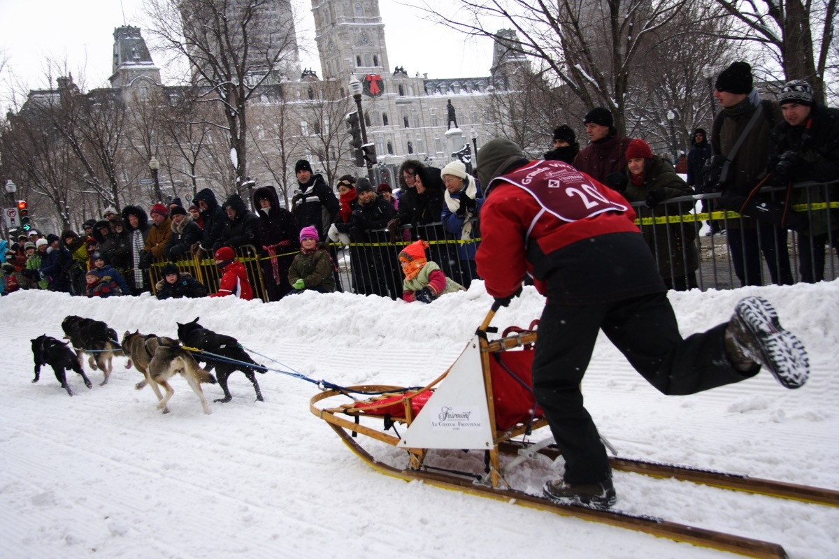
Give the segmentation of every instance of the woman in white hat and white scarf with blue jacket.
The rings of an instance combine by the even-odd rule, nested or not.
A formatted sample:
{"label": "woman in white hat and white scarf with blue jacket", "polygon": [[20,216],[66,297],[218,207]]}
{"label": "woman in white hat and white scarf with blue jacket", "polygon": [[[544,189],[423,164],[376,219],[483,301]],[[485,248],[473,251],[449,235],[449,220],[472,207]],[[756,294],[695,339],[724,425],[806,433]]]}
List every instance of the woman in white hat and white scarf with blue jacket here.
{"label": "woman in white hat and white scarf with blue jacket", "polygon": [[477,181],[466,173],[462,161],[452,161],[440,171],[443,184],[446,185],[445,204],[440,221],[447,233],[459,241],[457,257],[460,266],[451,271],[452,279],[466,289],[477,277],[475,270],[475,252],[481,232],[478,230],[478,214],[483,204],[483,195]]}

